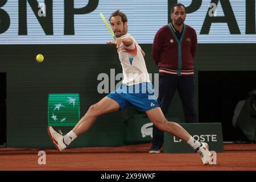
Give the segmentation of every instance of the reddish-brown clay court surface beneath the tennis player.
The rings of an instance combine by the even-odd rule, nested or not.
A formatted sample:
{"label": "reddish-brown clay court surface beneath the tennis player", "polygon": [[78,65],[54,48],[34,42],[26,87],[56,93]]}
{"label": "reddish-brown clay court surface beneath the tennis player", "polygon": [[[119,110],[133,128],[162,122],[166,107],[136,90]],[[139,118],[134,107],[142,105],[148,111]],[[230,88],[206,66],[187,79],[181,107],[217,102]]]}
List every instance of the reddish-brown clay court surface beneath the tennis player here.
{"label": "reddish-brown clay court surface beneath the tennis player", "polygon": [[0,148],[0,170],[83,171],[256,171],[256,144],[225,144],[217,164],[204,166],[196,154],[148,154],[150,143],[121,147],[73,148],[46,152],[38,164],[38,149]]}

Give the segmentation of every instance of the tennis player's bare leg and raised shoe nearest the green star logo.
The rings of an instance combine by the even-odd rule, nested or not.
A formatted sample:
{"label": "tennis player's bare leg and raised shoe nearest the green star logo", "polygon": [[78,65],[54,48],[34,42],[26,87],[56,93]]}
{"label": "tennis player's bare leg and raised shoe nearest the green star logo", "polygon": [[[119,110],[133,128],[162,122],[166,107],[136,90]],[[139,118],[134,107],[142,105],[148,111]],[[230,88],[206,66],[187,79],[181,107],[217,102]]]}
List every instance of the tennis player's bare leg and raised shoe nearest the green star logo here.
{"label": "tennis player's bare leg and raised shoe nearest the green star logo", "polygon": [[104,97],[96,104],[89,107],[84,117],[76,124],[76,126],[67,134],[61,135],[57,133],[51,126],[48,126],[48,134],[53,144],[59,151],[63,151],[77,136],[85,133],[92,127],[97,117],[102,114],[110,113],[120,109],[119,104],[112,98]]}

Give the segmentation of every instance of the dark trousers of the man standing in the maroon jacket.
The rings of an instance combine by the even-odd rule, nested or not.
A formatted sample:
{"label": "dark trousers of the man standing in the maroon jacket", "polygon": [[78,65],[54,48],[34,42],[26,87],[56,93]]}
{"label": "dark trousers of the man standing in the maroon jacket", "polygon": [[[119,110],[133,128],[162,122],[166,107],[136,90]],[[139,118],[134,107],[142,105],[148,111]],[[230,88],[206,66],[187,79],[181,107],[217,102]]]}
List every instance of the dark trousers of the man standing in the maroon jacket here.
{"label": "dark trousers of the man standing in the maroon jacket", "polygon": [[[163,114],[166,116],[175,91],[179,92],[180,100],[183,106],[185,122],[197,122],[195,110],[195,85],[193,75],[171,75],[168,73],[159,73],[159,96],[158,103]],[[152,144],[155,147],[162,147],[164,133],[153,125]]]}

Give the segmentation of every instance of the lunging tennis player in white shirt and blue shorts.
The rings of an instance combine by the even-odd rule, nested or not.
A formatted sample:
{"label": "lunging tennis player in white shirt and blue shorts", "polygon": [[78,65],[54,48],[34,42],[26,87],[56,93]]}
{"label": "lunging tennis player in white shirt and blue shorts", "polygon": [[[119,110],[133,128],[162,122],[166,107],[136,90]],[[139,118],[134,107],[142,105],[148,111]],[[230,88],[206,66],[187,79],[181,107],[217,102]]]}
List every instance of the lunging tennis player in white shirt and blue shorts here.
{"label": "lunging tennis player in white shirt and blue shorts", "polygon": [[117,10],[112,13],[109,21],[117,39],[107,44],[114,44],[117,47],[123,69],[122,85],[90,106],[84,117],[69,133],[61,135],[53,130],[51,126],[48,126],[48,134],[53,144],[59,151],[63,151],[79,135],[90,129],[100,115],[134,106],[146,112],[148,118],[160,130],[187,142],[201,156],[203,164],[208,164],[210,160],[208,144],[198,142],[179,124],[169,122],[164,117],[154,96],[154,88],[150,82],[144,61],[145,54],[133,36],[127,34],[127,16]]}

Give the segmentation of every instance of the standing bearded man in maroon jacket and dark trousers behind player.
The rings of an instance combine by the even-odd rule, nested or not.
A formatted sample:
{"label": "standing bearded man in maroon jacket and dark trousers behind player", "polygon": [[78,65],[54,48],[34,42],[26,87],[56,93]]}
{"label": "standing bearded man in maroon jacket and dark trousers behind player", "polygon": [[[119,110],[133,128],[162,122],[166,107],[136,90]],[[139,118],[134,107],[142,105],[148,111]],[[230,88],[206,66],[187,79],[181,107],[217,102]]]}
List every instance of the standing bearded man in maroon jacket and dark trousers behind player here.
{"label": "standing bearded man in maroon jacket and dark trousers behind player", "polygon": [[[184,24],[185,6],[178,3],[171,8],[172,22],[160,28],[152,46],[152,57],[159,67],[158,102],[167,115],[175,91],[183,105],[185,122],[197,122],[194,98],[193,60],[197,49],[196,31]],[[163,131],[153,126],[153,140],[150,153],[160,153],[163,145]]]}

